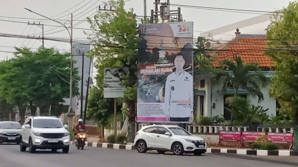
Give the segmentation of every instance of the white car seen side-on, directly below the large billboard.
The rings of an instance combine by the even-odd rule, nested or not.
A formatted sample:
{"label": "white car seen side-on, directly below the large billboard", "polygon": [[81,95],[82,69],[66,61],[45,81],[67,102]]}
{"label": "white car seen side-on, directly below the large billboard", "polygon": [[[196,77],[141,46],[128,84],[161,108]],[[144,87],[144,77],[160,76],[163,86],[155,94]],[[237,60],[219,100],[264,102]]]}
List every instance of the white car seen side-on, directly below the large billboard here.
{"label": "white car seen side-on, directly below the large billboard", "polygon": [[157,150],[161,154],[172,151],[175,155],[201,155],[207,149],[203,138],[191,135],[187,130],[174,125],[143,126],[136,133],[134,144],[140,153]]}

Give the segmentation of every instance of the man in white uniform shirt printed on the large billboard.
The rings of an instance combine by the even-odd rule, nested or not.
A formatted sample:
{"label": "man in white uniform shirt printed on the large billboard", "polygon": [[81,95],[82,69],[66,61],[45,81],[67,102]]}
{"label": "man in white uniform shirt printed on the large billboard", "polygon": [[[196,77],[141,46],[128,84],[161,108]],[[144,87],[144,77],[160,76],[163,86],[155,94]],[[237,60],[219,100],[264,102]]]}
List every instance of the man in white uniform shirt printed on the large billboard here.
{"label": "man in white uniform shirt printed on the large billboard", "polygon": [[193,77],[183,70],[185,59],[178,53],[174,59],[175,72],[167,76],[164,112],[168,121],[191,122],[193,119]]}

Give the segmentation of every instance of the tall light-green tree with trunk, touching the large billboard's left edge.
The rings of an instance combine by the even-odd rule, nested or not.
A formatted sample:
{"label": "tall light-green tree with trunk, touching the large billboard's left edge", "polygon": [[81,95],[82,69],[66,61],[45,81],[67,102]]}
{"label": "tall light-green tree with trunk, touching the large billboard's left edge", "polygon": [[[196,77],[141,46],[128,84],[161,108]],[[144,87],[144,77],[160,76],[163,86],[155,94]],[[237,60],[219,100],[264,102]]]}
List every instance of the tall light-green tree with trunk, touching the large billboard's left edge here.
{"label": "tall light-green tree with trunk, touching the large billboard's left edge", "polygon": [[122,84],[126,87],[123,102],[128,106],[128,141],[135,137],[135,104],[138,58],[138,24],[133,10],[125,11],[123,0],[111,0],[107,2],[115,10],[99,11],[94,18],[88,18],[88,22],[94,30],[88,34],[96,47],[90,55],[97,58],[97,68],[127,67],[127,76],[122,77]]}

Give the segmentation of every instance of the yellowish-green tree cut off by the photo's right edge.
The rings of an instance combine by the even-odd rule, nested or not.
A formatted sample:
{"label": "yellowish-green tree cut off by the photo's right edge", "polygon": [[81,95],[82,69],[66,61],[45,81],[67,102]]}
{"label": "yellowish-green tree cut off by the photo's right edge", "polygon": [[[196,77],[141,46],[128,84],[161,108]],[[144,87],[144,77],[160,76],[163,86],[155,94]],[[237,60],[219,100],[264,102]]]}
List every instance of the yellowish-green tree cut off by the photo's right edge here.
{"label": "yellowish-green tree cut off by the photo's right edge", "polygon": [[[275,74],[271,79],[270,95],[280,102],[282,111],[295,115],[294,150],[298,150],[298,3],[291,2],[284,8],[283,15],[272,18],[267,30],[266,54],[275,62]],[[270,39],[270,40],[269,40]]]}

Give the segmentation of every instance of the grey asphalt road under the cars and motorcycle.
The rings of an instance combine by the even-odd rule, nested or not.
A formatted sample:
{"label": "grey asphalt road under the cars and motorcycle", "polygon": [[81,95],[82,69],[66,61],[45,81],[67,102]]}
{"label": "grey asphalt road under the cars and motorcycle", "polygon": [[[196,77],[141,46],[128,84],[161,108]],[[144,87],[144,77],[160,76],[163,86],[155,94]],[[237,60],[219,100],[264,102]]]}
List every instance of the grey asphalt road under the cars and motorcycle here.
{"label": "grey asphalt road under the cars and motorcycle", "polygon": [[[86,147],[76,150],[71,146],[68,154],[40,151],[20,152],[18,145],[0,145],[0,167],[280,167],[262,161],[225,157],[216,154],[204,156],[174,156],[171,154],[138,153],[135,150],[114,150]],[[283,167],[290,167],[282,165]]]}

